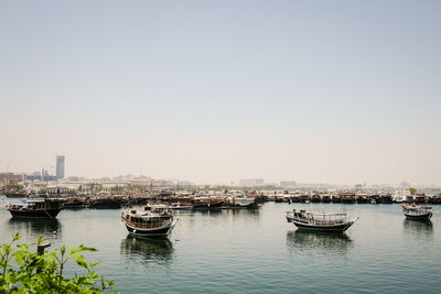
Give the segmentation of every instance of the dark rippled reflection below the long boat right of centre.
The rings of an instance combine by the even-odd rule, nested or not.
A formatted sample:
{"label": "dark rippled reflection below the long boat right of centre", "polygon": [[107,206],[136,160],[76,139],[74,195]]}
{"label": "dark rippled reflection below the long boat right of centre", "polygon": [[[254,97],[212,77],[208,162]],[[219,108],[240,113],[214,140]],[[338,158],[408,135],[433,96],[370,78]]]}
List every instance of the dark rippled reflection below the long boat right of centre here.
{"label": "dark rippled reflection below the long boat right of centre", "polygon": [[305,250],[345,252],[352,247],[352,240],[347,235],[343,233],[295,230],[287,232],[287,244],[291,248]]}

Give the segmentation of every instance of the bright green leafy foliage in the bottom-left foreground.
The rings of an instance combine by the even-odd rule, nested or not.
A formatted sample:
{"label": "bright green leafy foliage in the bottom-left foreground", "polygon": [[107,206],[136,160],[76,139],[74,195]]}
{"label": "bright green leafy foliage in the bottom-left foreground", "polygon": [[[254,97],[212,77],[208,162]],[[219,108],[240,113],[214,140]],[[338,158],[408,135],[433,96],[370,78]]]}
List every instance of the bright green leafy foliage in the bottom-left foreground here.
{"label": "bright green leafy foliage in the bottom-left foreground", "polygon": [[[97,251],[95,248],[63,246],[60,251],[46,251],[39,254],[30,248],[35,243],[18,244],[20,235],[10,243],[0,244],[0,293],[103,293],[114,285],[105,281],[94,270],[98,263],[87,263],[80,254],[84,251]],[[45,240],[40,237],[36,244]],[[86,272],[74,277],[63,275],[68,261],[75,262]]]}

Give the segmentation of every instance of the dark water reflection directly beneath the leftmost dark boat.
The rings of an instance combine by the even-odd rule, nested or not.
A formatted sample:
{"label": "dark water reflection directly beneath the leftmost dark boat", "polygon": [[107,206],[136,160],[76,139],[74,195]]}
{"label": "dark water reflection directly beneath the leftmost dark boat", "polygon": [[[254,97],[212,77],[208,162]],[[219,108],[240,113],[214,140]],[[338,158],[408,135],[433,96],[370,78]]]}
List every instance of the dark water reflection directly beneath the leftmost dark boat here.
{"label": "dark water reflection directly beneath the leftmost dark boat", "polygon": [[29,236],[47,236],[56,232],[60,235],[62,226],[57,219],[11,218],[9,228],[13,232]]}

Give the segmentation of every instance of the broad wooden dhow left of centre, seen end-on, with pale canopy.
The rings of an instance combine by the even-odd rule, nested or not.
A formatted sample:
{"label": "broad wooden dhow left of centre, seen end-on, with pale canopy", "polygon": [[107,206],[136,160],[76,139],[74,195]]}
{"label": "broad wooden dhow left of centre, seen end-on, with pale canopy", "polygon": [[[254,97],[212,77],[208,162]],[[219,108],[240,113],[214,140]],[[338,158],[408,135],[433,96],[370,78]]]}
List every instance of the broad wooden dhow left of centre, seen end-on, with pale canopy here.
{"label": "broad wooden dhow left of centre, seen end-on, with pale canopy", "polygon": [[144,210],[126,210],[121,213],[129,233],[144,237],[168,237],[176,225],[172,210],[166,205],[146,206]]}

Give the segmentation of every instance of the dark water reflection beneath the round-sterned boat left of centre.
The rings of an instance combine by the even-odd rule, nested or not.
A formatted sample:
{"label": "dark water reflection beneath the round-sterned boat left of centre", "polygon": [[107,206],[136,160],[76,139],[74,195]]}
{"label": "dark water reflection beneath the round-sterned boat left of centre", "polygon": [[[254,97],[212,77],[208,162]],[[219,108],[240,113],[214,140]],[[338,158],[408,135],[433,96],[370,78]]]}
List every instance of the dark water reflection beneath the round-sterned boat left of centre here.
{"label": "dark water reflection beneath the round-sterned boat left of centre", "polygon": [[164,264],[172,260],[173,243],[169,239],[141,238],[128,235],[121,240],[121,254],[144,264]]}

